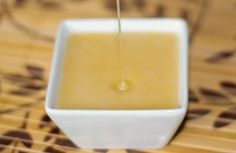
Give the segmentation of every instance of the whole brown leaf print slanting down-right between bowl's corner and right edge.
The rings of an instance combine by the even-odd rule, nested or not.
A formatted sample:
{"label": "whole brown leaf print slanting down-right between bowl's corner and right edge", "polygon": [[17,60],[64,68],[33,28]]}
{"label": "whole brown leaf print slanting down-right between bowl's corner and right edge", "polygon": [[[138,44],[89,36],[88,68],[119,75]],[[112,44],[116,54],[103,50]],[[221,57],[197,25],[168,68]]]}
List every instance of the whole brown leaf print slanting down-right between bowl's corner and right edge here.
{"label": "whole brown leaf print slanting down-right between bowl's corner and right edge", "polygon": [[200,88],[200,93],[209,102],[217,104],[230,104],[232,103],[228,97],[220,93],[219,91],[207,88]]}

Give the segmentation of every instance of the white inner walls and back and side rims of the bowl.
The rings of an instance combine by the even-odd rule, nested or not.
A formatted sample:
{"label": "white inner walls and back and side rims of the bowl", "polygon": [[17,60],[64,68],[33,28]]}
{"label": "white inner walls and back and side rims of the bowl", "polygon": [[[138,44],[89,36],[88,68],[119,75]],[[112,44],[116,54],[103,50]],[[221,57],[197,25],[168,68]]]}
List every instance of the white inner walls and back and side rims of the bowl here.
{"label": "white inner walls and back and side rims of the bowl", "polygon": [[[54,104],[61,77],[62,61],[67,37],[71,33],[117,32],[117,19],[66,20],[59,26],[46,97],[46,109],[56,109]],[[174,33],[179,40],[179,103],[187,107],[187,28],[181,19],[122,19],[123,32]]]}

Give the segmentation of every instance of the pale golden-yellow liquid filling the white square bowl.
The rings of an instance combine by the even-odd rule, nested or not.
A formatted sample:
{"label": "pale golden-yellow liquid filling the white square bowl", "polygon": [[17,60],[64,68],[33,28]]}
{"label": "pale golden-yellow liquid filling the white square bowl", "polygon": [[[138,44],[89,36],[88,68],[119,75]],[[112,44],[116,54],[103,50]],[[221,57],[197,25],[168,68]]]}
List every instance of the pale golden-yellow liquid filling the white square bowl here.
{"label": "pale golden-yellow liquid filling the white square bowl", "polygon": [[73,34],[67,40],[56,107],[61,109],[163,109],[178,102],[178,39],[166,33],[123,33],[130,87],[117,89],[116,33]]}

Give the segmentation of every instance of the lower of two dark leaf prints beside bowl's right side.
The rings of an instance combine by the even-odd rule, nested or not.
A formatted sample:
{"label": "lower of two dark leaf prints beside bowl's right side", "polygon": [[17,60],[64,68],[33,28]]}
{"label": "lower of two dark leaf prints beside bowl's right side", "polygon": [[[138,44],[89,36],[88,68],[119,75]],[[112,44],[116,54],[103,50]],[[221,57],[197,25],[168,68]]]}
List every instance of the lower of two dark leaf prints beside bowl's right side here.
{"label": "lower of two dark leaf prints beside bowl's right side", "polygon": [[202,117],[206,114],[208,114],[211,110],[208,108],[195,108],[195,109],[190,109],[187,112],[186,119],[191,120],[191,119],[196,119],[199,117]]}

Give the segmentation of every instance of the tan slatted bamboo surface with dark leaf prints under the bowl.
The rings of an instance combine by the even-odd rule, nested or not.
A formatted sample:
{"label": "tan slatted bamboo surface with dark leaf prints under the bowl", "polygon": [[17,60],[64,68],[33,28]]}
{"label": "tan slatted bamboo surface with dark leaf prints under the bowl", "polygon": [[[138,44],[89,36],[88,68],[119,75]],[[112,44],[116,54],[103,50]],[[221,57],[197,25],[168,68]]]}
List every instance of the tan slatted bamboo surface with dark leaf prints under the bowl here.
{"label": "tan slatted bamboo surface with dark leaf prints under the bowl", "polygon": [[0,0],[0,152],[236,153],[236,0],[123,0],[123,17],[189,24],[189,111],[165,148],[76,148],[44,111],[54,36],[67,18],[116,17],[114,0]]}

